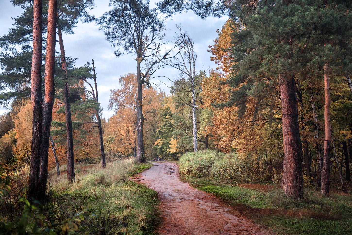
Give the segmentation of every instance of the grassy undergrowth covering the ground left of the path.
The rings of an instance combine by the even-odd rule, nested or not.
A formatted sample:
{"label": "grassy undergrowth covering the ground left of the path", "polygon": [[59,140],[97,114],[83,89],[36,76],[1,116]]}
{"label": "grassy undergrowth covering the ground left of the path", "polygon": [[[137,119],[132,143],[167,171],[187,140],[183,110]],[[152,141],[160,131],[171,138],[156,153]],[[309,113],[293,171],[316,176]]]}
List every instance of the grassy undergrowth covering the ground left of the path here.
{"label": "grassy undergrowth covering the ground left of the path", "polygon": [[[128,180],[151,166],[132,160],[109,162],[104,169],[99,164],[76,165],[74,183],[67,182],[65,173],[56,177],[51,171],[50,195],[43,204],[29,204],[25,188],[17,198],[1,194],[13,208],[0,212],[0,234],[20,229],[28,234],[152,234],[158,223],[157,193]],[[7,185],[27,182],[24,178],[27,174],[18,174]],[[5,191],[14,195],[11,190]]]}

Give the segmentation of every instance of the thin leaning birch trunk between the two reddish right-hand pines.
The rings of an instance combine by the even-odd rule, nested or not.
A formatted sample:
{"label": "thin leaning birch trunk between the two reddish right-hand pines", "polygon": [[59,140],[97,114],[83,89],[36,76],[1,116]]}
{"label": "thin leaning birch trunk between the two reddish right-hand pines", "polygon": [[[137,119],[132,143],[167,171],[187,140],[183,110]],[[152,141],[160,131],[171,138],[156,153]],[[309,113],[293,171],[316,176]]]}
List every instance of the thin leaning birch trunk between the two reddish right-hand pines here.
{"label": "thin leaning birch trunk between the two reddish right-hand pines", "polygon": [[322,171],[322,159],[321,159],[321,145],[319,143],[319,135],[318,135],[318,120],[316,118],[316,110],[315,110],[315,103],[314,103],[314,94],[312,86],[308,81],[308,90],[310,94],[310,107],[312,107],[313,113],[313,129],[314,129],[314,140],[315,140],[315,151],[316,151],[316,161],[318,165],[318,186],[321,187],[321,171]]}

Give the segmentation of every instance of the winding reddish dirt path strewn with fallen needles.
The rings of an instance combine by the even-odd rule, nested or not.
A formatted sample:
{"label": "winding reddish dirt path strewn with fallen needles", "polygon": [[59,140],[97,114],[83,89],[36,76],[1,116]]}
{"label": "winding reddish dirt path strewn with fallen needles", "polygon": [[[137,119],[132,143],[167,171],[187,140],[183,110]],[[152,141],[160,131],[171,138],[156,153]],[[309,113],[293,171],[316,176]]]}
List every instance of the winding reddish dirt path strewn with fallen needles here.
{"label": "winding reddish dirt path strewn with fallen needles", "polygon": [[182,182],[175,163],[158,162],[132,179],[159,195],[163,223],[157,234],[272,234],[214,196]]}

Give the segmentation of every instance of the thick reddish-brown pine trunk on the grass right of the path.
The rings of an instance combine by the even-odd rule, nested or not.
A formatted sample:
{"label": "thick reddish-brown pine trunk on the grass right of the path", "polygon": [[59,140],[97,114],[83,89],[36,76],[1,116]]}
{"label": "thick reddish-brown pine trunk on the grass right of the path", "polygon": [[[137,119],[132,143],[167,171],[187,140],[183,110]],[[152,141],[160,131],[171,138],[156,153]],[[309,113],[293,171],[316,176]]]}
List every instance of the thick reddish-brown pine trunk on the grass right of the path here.
{"label": "thick reddish-brown pine trunk on the grass right of the path", "polygon": [[284,162],[281,187],[291,198],[303,197],[302,143],[298,124],[296,84],[293,75],[279,76],[282,105]]}

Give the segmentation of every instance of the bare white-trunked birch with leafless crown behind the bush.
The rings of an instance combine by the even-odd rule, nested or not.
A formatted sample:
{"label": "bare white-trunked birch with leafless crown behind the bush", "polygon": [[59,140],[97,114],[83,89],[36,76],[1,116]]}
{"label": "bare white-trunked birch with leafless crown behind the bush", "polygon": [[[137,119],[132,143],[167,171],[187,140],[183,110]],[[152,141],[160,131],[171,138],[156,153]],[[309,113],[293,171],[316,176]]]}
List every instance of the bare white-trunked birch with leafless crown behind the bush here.
{"label": "bare white-trunked birch with leafless crown behind the bush", "polygon": [[198,150],[197,145],[197,121],[196,121],[196,95],[195,95],[195,76],[196,68],[195,62],[197,54],[194,52],[194,40],[190,38],[189,34],[182,31],[181,26],[177,26],[180,33],[177,34],[177,42],[179,43],[180,53],[178,57],[171,60],[164,61],[167,66],[171,66],[180,71],[182,76],[186,76],[190,82],[191,91],[191,109],[192,109],[192,125],[193,125],[193,150]]}

